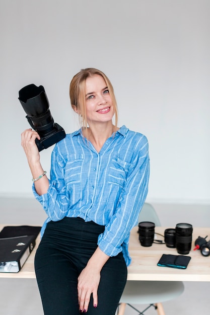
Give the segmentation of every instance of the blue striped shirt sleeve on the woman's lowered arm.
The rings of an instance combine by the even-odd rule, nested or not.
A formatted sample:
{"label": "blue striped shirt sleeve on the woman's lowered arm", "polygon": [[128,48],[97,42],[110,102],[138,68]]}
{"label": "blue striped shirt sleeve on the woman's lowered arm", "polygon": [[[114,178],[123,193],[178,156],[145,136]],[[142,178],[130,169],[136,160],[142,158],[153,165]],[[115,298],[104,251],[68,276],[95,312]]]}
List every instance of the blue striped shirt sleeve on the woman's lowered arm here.
{"label": "blue striped shirt sleeve on the woman's lowered arm", "polygon": [[137,223],[139,212],[147,197],[149,174],[150,159],[147,151],[146,156],[139,159],[129,175],[115,215],[106,225],[104,233],[98,238],[98,246],[105,254],[116,256],[123,251],[127,263],[130,259],[125,249],[128,247],[130,230]]}

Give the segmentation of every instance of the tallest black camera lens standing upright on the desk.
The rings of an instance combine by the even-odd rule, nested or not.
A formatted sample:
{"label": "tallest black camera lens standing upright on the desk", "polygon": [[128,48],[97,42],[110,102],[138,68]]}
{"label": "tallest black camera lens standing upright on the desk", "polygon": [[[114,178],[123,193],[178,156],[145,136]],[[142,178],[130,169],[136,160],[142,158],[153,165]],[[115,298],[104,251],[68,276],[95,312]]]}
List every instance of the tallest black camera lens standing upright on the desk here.
{"label": "tallest black camera lens standing upright on the desk", "polygon": [[176,249],[179,254],[189,254],[192,245],[192,225],[188,223],[176,224]]}

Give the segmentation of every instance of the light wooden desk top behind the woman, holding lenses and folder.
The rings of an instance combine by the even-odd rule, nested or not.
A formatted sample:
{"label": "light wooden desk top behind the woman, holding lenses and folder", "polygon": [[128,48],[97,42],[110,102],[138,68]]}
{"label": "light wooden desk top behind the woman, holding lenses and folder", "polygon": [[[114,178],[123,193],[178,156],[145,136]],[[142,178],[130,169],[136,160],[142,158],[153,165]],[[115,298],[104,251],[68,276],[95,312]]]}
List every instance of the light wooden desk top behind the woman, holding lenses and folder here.
{"label": "light wooden desk top behind the woman, holding lenses and folder", "polygon": [[[0,224],[0,230],[4,227]],[[167,227],[168,228],[168,227]],[[156,227],[157,233],[164,233],[166,227]],[[210,281],[210,256],[204,257],[200,251],[193,251],[194,241],[198,236],[210,239],[210,227],[193,227],[192,249],[188,256],[191,260],[187,269],[180,270],[168,267],[159,267],[157,263],[162,254],[178,255],[176,249],[165,244],[153,244],[152,247],[143,247],[138,241],[137,226],[130,233],[129,253],[132,263],[128,267],[127,280],[146,281]],[[159,239],[159,237],[158,237]],[[23,268],[18,273],[0,273],[0,278],[35,278],[34,256],[40,237],[36,240],[36,247],[30,254]]]}

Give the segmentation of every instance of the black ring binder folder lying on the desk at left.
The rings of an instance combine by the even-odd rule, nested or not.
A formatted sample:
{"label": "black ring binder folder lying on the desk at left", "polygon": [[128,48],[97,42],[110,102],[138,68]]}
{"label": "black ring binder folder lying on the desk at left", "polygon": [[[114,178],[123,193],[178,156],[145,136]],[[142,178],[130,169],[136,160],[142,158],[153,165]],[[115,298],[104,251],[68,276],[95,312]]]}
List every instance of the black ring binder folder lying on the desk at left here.
{"label": "black ring binder folder lying on the desk at left", "polygon": [[36,244],[41,226],[5,226],[0,232],[0,272],[19,272]]}

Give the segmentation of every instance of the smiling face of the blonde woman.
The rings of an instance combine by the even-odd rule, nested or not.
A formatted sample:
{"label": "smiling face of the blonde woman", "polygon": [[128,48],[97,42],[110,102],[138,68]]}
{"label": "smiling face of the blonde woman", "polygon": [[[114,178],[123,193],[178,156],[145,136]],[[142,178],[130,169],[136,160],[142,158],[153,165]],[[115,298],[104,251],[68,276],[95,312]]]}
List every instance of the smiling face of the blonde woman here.
{"label": "smiling face of the blonde woman", "polygon": [[104,78],[95,74],[88,77],[85,86],[88,123],[107,122],[114,116],[114,108]]}

